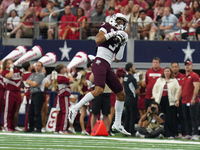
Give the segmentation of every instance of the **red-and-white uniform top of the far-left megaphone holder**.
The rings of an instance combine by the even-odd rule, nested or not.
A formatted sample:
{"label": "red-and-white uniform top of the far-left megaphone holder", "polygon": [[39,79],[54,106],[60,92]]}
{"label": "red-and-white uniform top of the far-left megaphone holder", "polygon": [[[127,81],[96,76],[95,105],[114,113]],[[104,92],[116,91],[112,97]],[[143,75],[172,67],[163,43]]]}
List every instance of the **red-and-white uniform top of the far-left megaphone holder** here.
{"label": "red-and-white uniform top of the far-left megaphone holder", "polygon": [[20,85],[21,85],[21,71],[19,69],[14,69],[13,76],[10,79],[7,79],[5,76],[8,74],[9,70],[3,70],[2,76],[5,79],[6,82],[6,90],[9,91],[20,91]]}

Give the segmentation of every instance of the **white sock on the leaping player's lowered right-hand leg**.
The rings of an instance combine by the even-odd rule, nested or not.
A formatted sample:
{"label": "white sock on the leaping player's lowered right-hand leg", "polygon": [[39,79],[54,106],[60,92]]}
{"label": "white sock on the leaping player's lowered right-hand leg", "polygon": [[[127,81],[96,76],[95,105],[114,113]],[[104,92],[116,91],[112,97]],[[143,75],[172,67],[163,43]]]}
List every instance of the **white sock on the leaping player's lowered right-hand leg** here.
{"label": "white sock on the leaping player's lowered right-hand leg", "polygon": [[121,119],[122,119],[122,111],[124,108],[124,101],[118,101],[115,102],[115,123],[121,125]]}

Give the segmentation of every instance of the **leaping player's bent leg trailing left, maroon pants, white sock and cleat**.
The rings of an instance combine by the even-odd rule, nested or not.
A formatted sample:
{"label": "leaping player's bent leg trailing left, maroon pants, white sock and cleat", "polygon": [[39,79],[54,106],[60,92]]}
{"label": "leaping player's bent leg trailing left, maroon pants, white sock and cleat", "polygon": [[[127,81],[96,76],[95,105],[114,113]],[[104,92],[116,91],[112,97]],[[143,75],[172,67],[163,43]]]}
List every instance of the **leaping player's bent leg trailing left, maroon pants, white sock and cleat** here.
{"label": "leaping player's bent leg trailing left, maroon pants, white sock and cleat", "polygon": [[100,61],[99,58],[94,60],[92,65],[92,72],[94,74],[94,84],[95,89],[91,92],[88,92],[76,105],[69,108],[69,122],[73,123],[76,117],[77,111],[87,102],[94,99],[94,97],[103,93],[103,89],[105,87],[106,74],[107,74],[107,66],[109,64],[105,61]]}

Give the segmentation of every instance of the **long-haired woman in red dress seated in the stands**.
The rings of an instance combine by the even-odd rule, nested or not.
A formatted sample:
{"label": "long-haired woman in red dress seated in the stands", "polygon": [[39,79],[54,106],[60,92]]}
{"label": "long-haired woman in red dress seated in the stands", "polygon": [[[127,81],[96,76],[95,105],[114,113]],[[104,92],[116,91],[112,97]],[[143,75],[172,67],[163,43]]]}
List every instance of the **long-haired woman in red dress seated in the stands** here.
{"label": "long-haired woman in red dress seated in the stands", "polygon": [[72,40],[79,39],[80,25],[81,25],[81,28],[85,28],[86,17],[84,16],[84,10],[79,7],[77,9],[76,14],[77,15],[74,18],[74,23],[64,27],[62,32],[60,33],[60,37],[63,40],[64,39],[72,39]]}

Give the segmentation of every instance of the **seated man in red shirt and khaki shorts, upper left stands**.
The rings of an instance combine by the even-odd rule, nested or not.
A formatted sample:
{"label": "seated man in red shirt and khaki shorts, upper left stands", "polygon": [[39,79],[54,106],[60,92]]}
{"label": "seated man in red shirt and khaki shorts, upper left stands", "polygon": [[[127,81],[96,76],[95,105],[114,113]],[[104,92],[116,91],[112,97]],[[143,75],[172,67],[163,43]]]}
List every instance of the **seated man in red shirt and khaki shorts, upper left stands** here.
{"label": "seated man in red shirt and khaki shorts, upper left stands", "polygon": [[[15,38],[20,38],[22,36],[26,36],[26,37],[33,36],[33,28],[34,28],[33,14],[34,14],[33,7],[27,9],[25,11],[25,15],[20,20],[21,23],[10,32],[10,36],[14,33],[16,33]],[[37,17],[36,17],[36,21],[38,21]]]}

